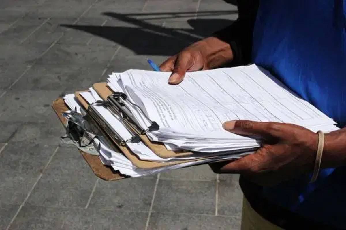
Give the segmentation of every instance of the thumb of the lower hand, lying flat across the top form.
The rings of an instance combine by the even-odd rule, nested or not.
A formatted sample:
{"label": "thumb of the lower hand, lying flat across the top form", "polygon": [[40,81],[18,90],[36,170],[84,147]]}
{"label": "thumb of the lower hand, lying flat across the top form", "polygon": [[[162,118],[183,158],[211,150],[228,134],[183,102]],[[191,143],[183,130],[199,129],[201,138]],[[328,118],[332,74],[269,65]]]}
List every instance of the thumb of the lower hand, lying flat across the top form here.
{"label": "thumb of the lower hand, lying flat across the top form", "polygon": [[234,120],[226,121],[224,124],[222,124],[222,126],[224,129],[232,133],[248,136],[259,136],[266,140],[282,138],[292,132],[292,127],[289,124],[277,122]]}

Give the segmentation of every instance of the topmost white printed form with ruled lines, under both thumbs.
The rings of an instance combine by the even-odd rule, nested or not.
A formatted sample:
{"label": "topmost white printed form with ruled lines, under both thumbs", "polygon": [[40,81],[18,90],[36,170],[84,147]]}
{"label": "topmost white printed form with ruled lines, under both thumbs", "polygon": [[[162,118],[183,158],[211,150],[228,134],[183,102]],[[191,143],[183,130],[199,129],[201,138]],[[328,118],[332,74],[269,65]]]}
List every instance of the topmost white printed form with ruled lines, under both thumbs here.
{"label": "topmost white printed form with ruled lines, under both thumbs", "polygon": [[226,132],[228,120],[295,123],[302,126],[335,122],[302,100],[257,66],[186,73],[170,85],[170,73],[129,70],[121,84],[134,103],[145,110],[160,130],[189,134]]}

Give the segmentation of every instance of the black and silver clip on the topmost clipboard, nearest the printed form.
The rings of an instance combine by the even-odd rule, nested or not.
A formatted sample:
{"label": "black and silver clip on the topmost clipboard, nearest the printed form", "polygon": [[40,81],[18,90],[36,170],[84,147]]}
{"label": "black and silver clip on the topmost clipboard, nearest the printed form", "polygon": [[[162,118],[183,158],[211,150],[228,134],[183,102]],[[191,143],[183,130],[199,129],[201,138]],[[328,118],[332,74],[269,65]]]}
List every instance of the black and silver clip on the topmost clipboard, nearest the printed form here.
{"label": "black and silver clip on the topmost clipboard, nearest the printed form", "polygon": [[[116,110],[119,111],[122,118],[125,120],[128,120],[132,124],[132,127],[135,128],[135,130],[138,133],[145,134],[148,131],[152,132],[152,131],[156,131],[160,128],[159,125],[155,121],[150,120],[150,118],[146,115],[146,113],[142,110],[142,108],[140,108],[137,104],[131,102],[125,93],[114,92],[112,95],[110,95],[107,98],[107,101],[109,101],[110,104],[113,104],[115,107],[117,107]],[[137,121],[136,117],[131,112],[131,109],[128,107],[128,105],[126,103],[124,103],[124,101],[128,102],[132,106],[139,109],[140,112],[143,114],[143,116],[151,123],[151,125],[147,129],[143,129],[141,127],[141,125]]]}

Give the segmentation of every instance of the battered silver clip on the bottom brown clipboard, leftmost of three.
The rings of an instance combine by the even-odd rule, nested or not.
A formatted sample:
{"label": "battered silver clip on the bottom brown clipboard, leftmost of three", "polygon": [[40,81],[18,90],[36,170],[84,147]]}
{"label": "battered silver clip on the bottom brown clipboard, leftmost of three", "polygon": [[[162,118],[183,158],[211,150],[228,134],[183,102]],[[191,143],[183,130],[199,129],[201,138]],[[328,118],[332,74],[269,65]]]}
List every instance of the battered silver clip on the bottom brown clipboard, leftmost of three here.
{"label": "battered silver clip on the bottom brown clipboard, leftmost of three", "polygon": [[68,120],[66,126],[66,134],[60,139],[66,144],[73,144],[83,152],[99,155],[94,148],[93,139],[96,134],[93,133],[89,123],[76,111],[64,112],[63,116]]}

